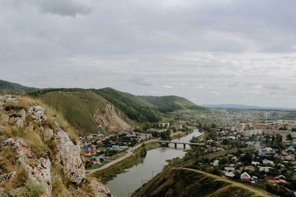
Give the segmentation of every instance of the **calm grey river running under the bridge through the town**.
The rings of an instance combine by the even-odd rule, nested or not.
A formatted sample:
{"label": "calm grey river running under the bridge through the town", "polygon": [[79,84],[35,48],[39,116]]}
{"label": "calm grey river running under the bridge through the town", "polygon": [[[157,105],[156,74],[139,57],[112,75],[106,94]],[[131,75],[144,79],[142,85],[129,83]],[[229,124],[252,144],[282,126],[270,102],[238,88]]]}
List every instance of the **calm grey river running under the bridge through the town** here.
{"label": "calm grey river running under the bridge through the town", "polygon": [[[172,141],[189,142],[192,136],[200,135],[202,135],[202,133],[194,129],[194,132],[189,133],[189,135]],[[186,145],[186,149],[189,149],[189,145]],[[182,158],[185,155],[184,150],[186,149],[183,148],[183,144],[177,144],[177,148],[175,148],[175,144],[169,144],[168,147],[159,147],[149,150],[143,162],[126,169],[127,172],[118,174],[105,185],[113,196],[128,197],[129,193],[134,192],[141,187],[142,183],[146,183],[150,180],[152,175],[155,176],[157,173],[161,172],[163,166],[168,164],[165,160],[175,157]]]}

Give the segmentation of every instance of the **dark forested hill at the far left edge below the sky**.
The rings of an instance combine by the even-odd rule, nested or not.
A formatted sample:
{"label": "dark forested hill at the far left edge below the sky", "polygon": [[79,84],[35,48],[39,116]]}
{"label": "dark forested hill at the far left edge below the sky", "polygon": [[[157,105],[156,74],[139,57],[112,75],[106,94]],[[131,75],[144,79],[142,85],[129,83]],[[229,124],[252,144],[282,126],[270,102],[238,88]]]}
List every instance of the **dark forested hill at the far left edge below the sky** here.
{"label": "dark forested hill at the far left edge below the sky", "polygon": [[0,79],[0,94],[2,95],[6,95],[6,94],[20,95],[22,93],[35,92],[38,90],[41,90],[41,89],[34,88],[34,87],[26,87],[17,83],[3,81]]}

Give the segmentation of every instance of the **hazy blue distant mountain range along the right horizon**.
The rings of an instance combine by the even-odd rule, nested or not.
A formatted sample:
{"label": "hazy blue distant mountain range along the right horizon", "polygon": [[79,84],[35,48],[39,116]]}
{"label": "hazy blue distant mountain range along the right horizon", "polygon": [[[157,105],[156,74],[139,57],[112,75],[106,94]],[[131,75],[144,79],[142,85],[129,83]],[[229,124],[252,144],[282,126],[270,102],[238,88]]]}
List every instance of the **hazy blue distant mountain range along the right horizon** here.
{"label": "hazy blue distant mountain range along the right horizon", "polygon": [[274,110],[296,110],[296,108],[281,107],[259,107],[254,105],[236,105],[236,104],[219,104],[219,105],[200,105],[205,108],[222,108],[222,109],[274,109]]}

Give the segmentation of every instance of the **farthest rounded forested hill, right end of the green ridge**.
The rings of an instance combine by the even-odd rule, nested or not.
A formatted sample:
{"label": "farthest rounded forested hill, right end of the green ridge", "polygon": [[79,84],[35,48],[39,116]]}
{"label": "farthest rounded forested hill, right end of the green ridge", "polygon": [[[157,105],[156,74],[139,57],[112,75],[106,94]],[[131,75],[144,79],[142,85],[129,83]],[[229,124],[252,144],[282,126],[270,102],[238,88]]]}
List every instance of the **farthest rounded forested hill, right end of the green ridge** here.
{"label": "farthest rounded forested hill, right end of the green ridge", "polygon": [[178,96],[137,96],[152,105],[160,112],[173,112],[175,110],[204,110],[206,108],[195,105],[193,102]]}

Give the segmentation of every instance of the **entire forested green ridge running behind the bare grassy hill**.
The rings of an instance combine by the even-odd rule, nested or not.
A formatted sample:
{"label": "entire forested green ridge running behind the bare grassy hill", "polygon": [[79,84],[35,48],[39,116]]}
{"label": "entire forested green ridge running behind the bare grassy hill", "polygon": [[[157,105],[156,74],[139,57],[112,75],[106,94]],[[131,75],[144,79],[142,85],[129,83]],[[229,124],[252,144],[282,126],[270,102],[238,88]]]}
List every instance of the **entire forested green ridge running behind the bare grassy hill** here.
{"label": "entire forested green ridge running behind the bare grassy hill", "polygon": [[140,123],[160,122],[165,112],[175,110],[204,110],[206,108],[195,105],[189,100],[178,96],[135,96],[126,92],[120,92],[110,87],[102,89],[82,88],[29,88],[20,84],[0,80],[0,94],[20,95],[26,93],[33,97],[40,97],[49,92],[95,92],[104,97],[116,108],[121,110],[131,120]]}

